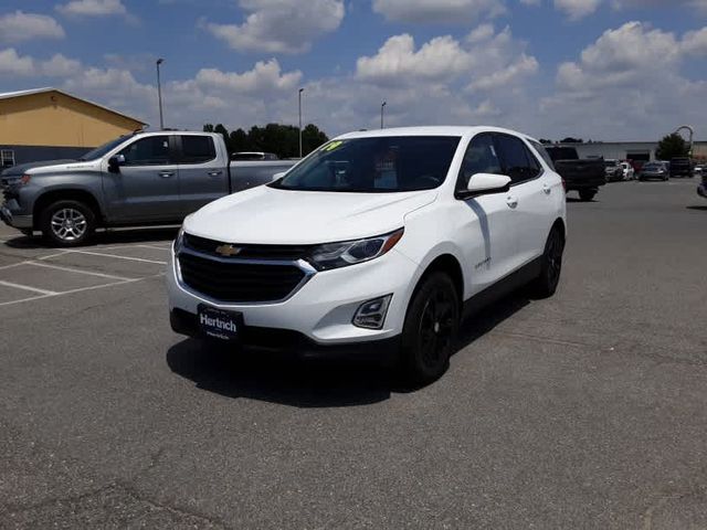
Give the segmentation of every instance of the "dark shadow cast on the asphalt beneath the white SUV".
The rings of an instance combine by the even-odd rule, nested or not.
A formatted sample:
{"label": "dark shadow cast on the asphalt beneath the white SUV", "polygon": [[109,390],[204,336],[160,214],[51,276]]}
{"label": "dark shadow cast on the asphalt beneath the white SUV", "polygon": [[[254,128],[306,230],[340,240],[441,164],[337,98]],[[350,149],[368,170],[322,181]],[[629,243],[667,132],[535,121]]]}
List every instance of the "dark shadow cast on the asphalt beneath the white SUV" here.
{"label": "dark shadow cast on the asphalt beneath the white SUV", "polygon": [[[523,292],[487,306],[461,327],[466,348],[530,303]],[[298,407],[357,406],[379,403],[407,385],[390,362],[302,360],[295,356],[224,350],[186,339],[167,351],[167,364],[198,389],[226,398],[249,398]]]}

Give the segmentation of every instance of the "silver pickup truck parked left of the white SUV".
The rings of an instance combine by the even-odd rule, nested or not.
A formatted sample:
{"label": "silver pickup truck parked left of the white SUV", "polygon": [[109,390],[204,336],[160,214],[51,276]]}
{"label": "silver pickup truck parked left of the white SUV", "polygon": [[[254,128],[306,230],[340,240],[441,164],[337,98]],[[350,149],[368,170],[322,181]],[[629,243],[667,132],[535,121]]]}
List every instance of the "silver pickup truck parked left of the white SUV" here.
{"label": "silver pickup truck parked left of the white SUV", "polygon": [[213,132],[137,132],[78,160],[0,173],[0,218],[56,246],[77,246],[98,226],[171,224],[220,197],[273,180],[292,160],[231,162]]}

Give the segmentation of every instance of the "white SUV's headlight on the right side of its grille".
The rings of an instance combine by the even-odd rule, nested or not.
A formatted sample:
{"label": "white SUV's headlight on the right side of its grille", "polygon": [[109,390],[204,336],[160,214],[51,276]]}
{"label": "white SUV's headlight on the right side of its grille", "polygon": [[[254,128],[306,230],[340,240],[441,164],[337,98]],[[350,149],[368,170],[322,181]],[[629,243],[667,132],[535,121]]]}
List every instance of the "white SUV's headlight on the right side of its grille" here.
{"label": "white SUV's headlight on the right side of its grille", "polygon": [[402,237],[404,229],[366,240],[342,241],[316,246],[309,254],[309,263],[317,271],[347,267],[382,256]]}

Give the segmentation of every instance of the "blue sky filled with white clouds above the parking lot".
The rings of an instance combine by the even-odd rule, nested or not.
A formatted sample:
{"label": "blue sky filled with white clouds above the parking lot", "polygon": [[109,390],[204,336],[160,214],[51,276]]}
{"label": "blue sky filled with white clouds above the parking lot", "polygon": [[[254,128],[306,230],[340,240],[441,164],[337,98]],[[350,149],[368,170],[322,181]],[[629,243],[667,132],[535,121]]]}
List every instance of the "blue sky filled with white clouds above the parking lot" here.
{"label": "blue sky filled with white clouds above the parking lot", "polygon": [[4,0],[0,92],[55,86],[157,124],[488,124],[707,138],[707,0]]}

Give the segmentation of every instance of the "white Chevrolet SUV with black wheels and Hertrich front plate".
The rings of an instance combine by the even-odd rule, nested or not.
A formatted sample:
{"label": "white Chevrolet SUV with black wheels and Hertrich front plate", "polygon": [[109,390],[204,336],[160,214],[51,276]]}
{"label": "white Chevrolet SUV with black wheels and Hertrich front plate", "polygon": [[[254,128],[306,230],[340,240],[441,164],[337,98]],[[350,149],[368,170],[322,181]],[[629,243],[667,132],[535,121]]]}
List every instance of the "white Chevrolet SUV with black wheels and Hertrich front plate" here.
{"label": "white Chevrolet SUV with black wheels and Hertrich front plate", "polygon": [[351,132],[277,177],[184,220],[175,331],[305,356],[392,348],[424,383],[449,367],[464,309],[558,285],[562,179],[525,135]]}

